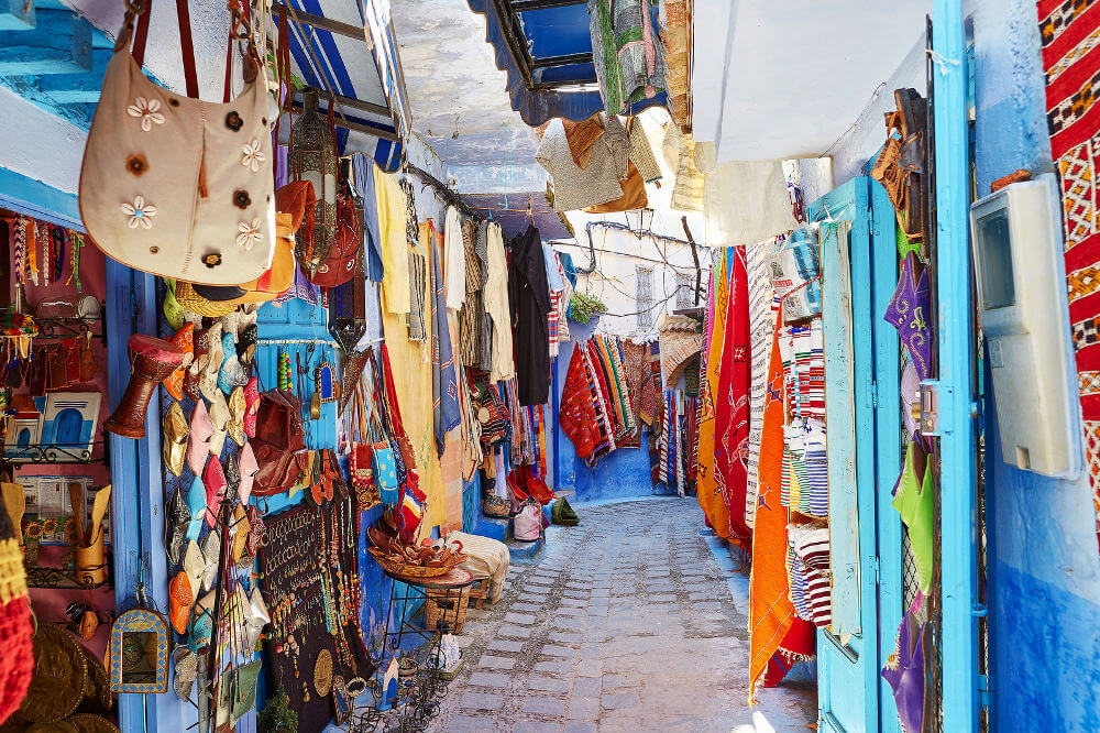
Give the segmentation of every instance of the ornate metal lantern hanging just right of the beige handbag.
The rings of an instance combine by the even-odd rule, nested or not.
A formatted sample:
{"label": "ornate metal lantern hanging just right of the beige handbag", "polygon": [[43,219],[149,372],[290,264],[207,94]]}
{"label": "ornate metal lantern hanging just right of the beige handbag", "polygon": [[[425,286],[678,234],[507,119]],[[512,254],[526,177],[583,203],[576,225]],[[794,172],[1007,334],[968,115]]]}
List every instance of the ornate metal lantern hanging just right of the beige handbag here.
{"label": "ornate metal lantern hanging just right of the beige handbag", "polygon": [[317,221],[312,241],[298,238],[298,263],[312,275],[329,255],[337,231],[337,166],[340,161],[328,121],[317,111],[317,89],[306,89],[301,116],[294,123],[292,169],[314,184]]}

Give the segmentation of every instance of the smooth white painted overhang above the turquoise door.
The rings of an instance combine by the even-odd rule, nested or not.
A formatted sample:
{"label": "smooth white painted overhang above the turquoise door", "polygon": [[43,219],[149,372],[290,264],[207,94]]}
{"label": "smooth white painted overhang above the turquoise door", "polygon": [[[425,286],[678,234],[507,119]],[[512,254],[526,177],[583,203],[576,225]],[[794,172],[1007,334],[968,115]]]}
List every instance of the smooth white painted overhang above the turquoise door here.
{"label": "smooth white painted overhang above the turquoise door", "polygon": [[812,157],[924,32],[931,0],[696,0],[693,133],[718,163]]}

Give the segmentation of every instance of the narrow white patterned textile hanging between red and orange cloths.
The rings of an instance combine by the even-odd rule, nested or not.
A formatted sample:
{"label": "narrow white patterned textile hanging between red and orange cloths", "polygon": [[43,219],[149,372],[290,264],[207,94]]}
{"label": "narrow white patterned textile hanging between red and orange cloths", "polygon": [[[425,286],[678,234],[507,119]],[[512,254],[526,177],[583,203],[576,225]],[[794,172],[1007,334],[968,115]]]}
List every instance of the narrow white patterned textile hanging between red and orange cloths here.
{"label": "narrow white patterned textile hanging between red and orange cloths", "polygon": [[770,250],[783,241],[782,237],[747,248],[749,275],[749,357],[751,380],[749,384],[749,450],[745,464],[745,524],[751,529],[756,522],[758,471],[760,468],[760,438],[763,406],[768,390],[768,357],[776,327],[779,302],[768,272]]}

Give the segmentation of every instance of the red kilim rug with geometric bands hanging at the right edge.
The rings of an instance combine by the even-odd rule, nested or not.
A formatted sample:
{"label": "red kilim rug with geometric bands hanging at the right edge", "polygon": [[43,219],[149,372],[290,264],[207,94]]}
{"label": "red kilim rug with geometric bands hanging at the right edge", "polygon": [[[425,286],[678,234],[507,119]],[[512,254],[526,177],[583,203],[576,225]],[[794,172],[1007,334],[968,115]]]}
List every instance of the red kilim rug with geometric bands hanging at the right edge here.
{"label": "red kilim rug with geometric bands hanging at the right edge", "polygon": [[1100,2],[1040,0],[1046,119],[1062,184],[1069,321],[1100,541]]}

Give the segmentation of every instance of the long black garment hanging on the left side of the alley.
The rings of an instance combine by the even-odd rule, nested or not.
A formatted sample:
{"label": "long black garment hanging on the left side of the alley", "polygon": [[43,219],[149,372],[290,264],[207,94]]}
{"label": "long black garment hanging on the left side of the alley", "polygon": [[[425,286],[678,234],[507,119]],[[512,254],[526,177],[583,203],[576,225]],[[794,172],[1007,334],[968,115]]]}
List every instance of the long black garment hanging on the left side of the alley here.
{"label": "long black garment hanging on the left side of the alley", "polygon": [[550,336],[547,332],[550,288],[542,238],[532,225],[512,240],[508,303],[516,324],[519,404],[546,404],[550,397]]}

